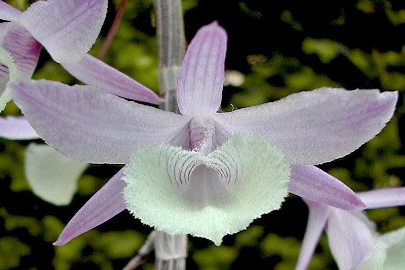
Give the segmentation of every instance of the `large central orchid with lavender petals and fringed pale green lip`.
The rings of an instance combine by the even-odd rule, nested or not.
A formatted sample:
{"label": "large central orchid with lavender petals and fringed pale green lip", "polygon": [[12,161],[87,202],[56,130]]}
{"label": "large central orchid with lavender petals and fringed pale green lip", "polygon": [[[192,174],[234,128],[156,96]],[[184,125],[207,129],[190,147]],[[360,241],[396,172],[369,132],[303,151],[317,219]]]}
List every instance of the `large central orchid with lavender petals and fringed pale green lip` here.
{"label": "large central orchid with lavender petals and fringed pale green lip", "polygon": [[217,22],[196,33],[178,80],[181,114],[94,86],[9,84],[49,145],[78,162],[127,164],[76,213],[55,245],[125,208],[159,230],[217,245],[278,209],[288,191],[345,210],[364,208],[351,189],[312,165],[343,157],[378,134],[392,117],[397,92],[320,88],[217,113],[226,44]]}

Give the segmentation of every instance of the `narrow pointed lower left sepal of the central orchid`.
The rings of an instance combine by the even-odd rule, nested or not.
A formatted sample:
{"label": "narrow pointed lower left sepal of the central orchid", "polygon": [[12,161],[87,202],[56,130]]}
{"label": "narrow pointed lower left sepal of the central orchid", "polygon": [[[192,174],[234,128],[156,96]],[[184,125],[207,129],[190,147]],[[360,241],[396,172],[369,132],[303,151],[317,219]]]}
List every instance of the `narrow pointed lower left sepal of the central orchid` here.
{"label": "narrow pointed lower left sepal of the central orchid", "polygon": [[55,246],[62,246],[73,238],[104,223],[126,208],[121,180],[123,170],[119,170],[92,198],[73,216],[63,229]]}

